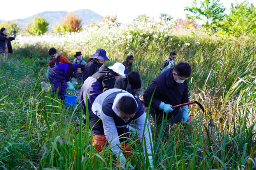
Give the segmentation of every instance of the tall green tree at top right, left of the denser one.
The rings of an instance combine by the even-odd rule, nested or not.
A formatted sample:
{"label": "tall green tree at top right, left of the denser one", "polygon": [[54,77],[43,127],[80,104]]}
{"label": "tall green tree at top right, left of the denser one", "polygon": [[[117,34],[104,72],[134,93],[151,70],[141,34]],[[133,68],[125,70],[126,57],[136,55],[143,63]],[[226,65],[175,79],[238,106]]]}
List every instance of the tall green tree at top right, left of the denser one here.
{"label": "tall green tree at top right, left of the denser one", "polygon": [[221,27],[225,14],[223,13],[226,8],[223,7],[220,0],[202,0],[201,6],[197,7],[196,0],[193,1],[192,7],[185,7],[184,10],[192,14],[186,14],[188,19],[199,19],[205,22],[203,26],[206,28],[218,29]]}

